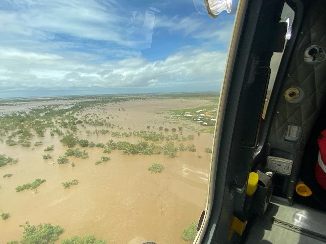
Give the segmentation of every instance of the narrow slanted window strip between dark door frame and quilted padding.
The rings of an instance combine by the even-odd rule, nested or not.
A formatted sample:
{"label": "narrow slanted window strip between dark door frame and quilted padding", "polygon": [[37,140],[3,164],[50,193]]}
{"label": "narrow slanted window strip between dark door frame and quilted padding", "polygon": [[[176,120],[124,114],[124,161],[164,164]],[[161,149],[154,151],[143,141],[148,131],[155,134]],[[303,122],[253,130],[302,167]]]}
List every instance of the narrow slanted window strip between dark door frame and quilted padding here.
{"label": "narrow slanted window strip between dark door frame and quilted padding", "polygon": [[[292,29],[292,23],[293,23],[293,19],[294,19],[294,11],[293,9],[287,4],[284,3],[284,7],[281,13],[281,20],[280,22],[286,22],[287,23],[287,32],[286,35],[284,36],[285,38],[285,45],[286,46],[286,42],[287,40],[289,40],[291,38],[291,29]],[[273,89],[274,86],[274,82],[275,82],[275,77],[277,74],[277,70],[280,64],[280,61],[282,59],[284,50],[283,52],[274,52],[273,56],[271,57],[270,60],[270,77],[269,77],[269,82],[268,82],[268,88],[267,88],[267,94],[265,97],[265,103],[264,103],[264,110],[262,113],[262,118],[265,118],[265,113],[267,110],[267,106],[268,106],[268,102],[269,102],[269,98],[270,98],[270,93]]]}

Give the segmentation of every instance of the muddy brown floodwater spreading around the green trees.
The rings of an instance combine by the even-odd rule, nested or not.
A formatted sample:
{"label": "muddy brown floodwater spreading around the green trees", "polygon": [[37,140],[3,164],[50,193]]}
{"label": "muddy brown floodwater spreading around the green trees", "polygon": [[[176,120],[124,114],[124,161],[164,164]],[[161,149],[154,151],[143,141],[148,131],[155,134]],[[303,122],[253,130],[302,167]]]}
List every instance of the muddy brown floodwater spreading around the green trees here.
{"label": "muddy brown floodwater spreading around the green trees", "polygon": [[[179,107],[196,107],[205,102],[179,102]],[[147,125],[158,131],[161,124],[177,128],[185,123],[184,120],[178,124],[167,119],[168,115],[164,112],[179,108],[175,104],[176,99],[134,101],[109,104],[98,110],[92,108],[83,114],[94,111],[102,113],[103,117],[112,114],[114,118],[110,118],[110,122],[122,126],[123,129],[117,129],[121,132],[146,129]],[[119,111],[119,107],[125,110]],[[86,129],[94,128],[87,126]],[[86,129],[81,130],[79,138],[95,143],[105,143],[110,139],[133,143],[142,140],[140,137],[87,136]],[[49,153],[53,155],[54,162],[64,155],[67,146],[59,142],[60,136],[57,135],[51,137],[46,133],[45,137],[35,136],[32,144],[40,140],[44,144],[34,146],[34,149],[0,144],[0,153],[20,159],[16,164],[0,168],[0,175],[13,174],[9,178],[0,178],[0,212],[11,215],[7,220],[0,220],[0,243],[20,240],[23,228],[19,225],[27,220],[31,224],[51,222],[64,227],[65,232],[56,243],[73,235],[87,234],[105,238],[108,243],[186,243],[181,238],[183,229],[191,221],[198,221],[205,208],[211,156],[205,152],[205,147],[212,146],[213,135],[198,135],[186,127],[182,132],[184,136],[195,136],[194,140],[180,142],[194,143],[196,152],[178,151],[177,157],[169,158],[164,154],[125,155],[119,150],[108,154],[103,153],[103,148],[87,147],[82,150],[89,153],[89,158],[69,157],[70,162],[75,162],[75,167],[71,167],[70,163],[58,164],[53,163],[52,159],[42,158],[43,154],[48,153],[44,148],[51,144],[55,149]],[[180,142],[174,141],[176,145]],[[202,157],[199,158],[198,154]],[[101,156],[110,156],[111,160],[96,165]],[[153,162],[162,163],[164,170],[151,173],[148,167]],[[47,180],[37,188],[37,192],[16,192],[18,185],[33,182],[36,178]],[[61,182],[72,179],[79,179],[79,184],[63,188]]]}

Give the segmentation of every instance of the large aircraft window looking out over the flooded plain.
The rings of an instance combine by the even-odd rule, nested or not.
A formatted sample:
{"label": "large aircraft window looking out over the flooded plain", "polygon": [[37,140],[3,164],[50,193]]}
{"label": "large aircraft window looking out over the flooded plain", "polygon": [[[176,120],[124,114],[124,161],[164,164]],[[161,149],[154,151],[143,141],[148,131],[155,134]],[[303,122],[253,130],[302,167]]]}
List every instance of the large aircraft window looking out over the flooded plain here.
{"label": "large aircraft window looking out over the flooded plain", "polygon": [[234,22],[202,6],[0,2],[1,243],[194,238]]}

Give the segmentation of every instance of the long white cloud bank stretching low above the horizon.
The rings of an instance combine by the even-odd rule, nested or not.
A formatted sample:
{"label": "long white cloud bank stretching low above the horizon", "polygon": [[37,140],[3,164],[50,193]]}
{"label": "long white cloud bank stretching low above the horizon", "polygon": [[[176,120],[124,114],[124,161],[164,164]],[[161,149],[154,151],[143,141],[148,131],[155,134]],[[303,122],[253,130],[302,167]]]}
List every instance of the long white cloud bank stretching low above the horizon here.
{"label": "long white cloud bank stretching low above the horizon", "polygon": [[[34,59],[33,65],[21,57],[41,56],[16,50],[10,60],[20,67],[11,71],[8,59],[0,60],[0,87],[161,87],[174,84],[202,82],[213,84],[224,72],[226,52],[183,50],[165,60],[149,62],[143,57],[126,58],[120,61],[105,61],[98,65],[85,65],[78,59],[60,56]],[[47,55],[44,58],[48,57]],[[42,68],[40,68],[42,67]],[[29,81],[29,83],[27,83]],[[32,81],[32,82],[30,82]]]}

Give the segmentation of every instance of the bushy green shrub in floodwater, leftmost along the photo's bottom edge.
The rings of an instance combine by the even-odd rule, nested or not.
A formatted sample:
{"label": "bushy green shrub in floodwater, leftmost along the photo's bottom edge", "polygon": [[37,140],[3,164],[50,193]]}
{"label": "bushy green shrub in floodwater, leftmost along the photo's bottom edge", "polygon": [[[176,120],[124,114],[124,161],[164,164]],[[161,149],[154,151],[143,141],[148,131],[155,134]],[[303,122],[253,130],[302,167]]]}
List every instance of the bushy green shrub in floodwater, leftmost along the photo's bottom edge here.
{"label": "bushy green shrub in floodwater, leftmost along the photo's bottom edge", "polygon": [[20,225],[20,227],[24,227],[22,244],[53,244],[59,238],[59,235],[65,231],[61,226],[52,226],[51,223],[30,225],[27,221],[24,225]]}

